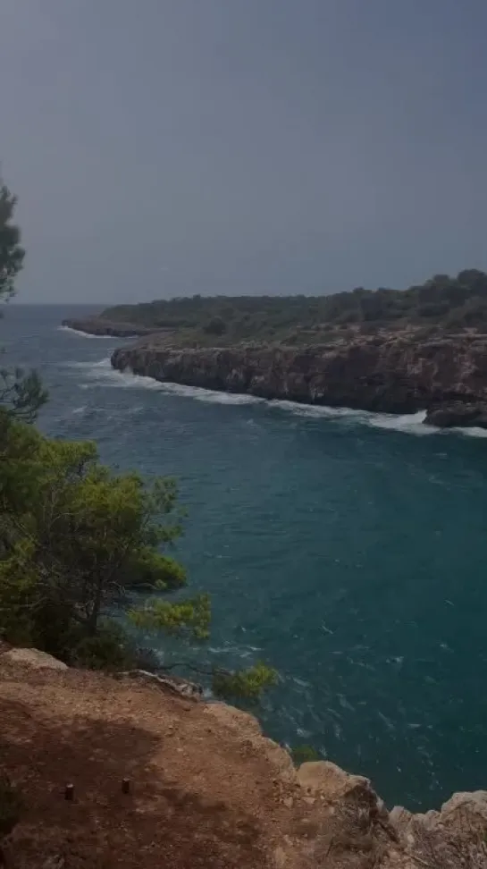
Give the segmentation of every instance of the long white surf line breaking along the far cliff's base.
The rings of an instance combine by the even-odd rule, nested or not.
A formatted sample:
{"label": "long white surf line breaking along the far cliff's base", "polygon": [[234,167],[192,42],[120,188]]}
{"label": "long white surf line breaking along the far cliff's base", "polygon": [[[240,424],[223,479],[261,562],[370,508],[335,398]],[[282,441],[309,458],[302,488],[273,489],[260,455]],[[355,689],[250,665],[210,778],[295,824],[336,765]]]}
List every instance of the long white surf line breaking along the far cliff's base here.
{"label": "long white surf line breaking along the far cliff's base", "polygon": [[245,395],[236,392],[216,392],[210,389],[203,389],[199,386],[159,383],[159,381],[154,380],[152,377],[134,375],[129,371],[118,371],[112,367],[110,357],[100,359],[99,362],[65,362],[64,366],[86,369],[90,382],[80,384],[84,389],[88,389],[95,384],[110,384],[113,387],[123,389],[149,389],[155,392],[165,392],[171,395],[178,395],[181,398],[205,401],[209,404],[263,404],[270,409],[278,409],[293,416],[336,420],[346,425],[353,425],[355,423],[356,425],[368,426],[370,428],[380,428],[402,434],[415,434],[421,437],[430,434],[444,435],[449,432],[465,434],[468,437],[487,437],[487,430],[483,428],[458,427],[441,429],[436,426],[426,425],[424,423],[426,417],[425,410],[405,414],[376,413],[371,410],[299,404],[297,401],[268,400],[259,398],[256,395]]}

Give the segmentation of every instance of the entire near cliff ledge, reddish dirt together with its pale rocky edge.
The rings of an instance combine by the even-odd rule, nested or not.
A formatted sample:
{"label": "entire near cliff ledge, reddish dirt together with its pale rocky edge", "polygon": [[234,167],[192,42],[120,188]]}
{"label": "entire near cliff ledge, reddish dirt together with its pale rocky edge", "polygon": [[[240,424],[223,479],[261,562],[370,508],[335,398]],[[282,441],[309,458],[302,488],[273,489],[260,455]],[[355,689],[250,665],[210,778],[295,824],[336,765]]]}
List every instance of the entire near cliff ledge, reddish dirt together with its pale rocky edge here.
{"label": "entire near cliff ledge, reddish dirt together with its pale rocky edge", "polygon": [[0,722],[23,802],[4,845],[15,869],[487,869],[487,792],[388,811],[362,776],[296,770],[225,704],[15,649],[0,654]]}

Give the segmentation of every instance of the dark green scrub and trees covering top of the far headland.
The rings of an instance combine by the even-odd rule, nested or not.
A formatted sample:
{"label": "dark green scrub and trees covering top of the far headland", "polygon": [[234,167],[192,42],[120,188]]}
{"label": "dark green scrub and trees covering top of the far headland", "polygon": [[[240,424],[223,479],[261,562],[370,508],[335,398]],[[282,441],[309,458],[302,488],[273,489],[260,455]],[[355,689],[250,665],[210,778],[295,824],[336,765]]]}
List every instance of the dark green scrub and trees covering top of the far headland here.
{"label": "dark green scrub and trees covering top of the far headland", "polygon": [[328,296],[193,296],[106,308],[102,320],[175,330],[181,343],[317,342],[340,326],[487,326],[487,274],[436,274],[408,290],[357,288]]}

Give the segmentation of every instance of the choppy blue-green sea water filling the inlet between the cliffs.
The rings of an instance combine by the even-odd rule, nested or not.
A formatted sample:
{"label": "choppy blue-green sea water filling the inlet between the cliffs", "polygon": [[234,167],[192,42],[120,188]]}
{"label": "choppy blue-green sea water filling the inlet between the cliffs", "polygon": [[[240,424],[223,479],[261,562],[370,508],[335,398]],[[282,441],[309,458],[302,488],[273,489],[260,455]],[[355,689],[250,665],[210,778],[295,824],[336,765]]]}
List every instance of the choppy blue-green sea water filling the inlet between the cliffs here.
{"label": "choppy blue-green sea water filling the inlet between the cliffs", "polygon": [[179,554],[213,595],[205,654],[279,669],[270,735],[370,776],[390,804],[485,787],[482,433],[164,388],[111,370],[120,341],[57,328],[72,309],[6,313],[5,361],[49,387],[46,432],[180,478]]}

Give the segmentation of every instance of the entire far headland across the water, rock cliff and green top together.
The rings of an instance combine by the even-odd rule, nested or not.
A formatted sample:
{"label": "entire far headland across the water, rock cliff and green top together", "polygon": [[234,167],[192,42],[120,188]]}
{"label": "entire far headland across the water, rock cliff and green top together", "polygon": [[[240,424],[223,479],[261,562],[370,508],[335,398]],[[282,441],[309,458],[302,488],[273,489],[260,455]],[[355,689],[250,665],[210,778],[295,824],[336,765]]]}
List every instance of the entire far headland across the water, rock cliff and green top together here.
{"label": "entire far headland across the water, rock cliff and green top together", "polygon": [[487,428],[487,274],[434,275],[405,291],[193,296],[72,317],[134,338],[112,365],[161,382]]}

